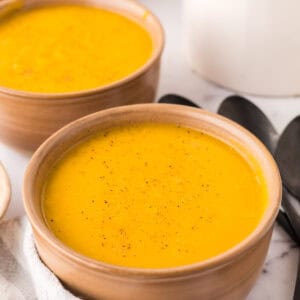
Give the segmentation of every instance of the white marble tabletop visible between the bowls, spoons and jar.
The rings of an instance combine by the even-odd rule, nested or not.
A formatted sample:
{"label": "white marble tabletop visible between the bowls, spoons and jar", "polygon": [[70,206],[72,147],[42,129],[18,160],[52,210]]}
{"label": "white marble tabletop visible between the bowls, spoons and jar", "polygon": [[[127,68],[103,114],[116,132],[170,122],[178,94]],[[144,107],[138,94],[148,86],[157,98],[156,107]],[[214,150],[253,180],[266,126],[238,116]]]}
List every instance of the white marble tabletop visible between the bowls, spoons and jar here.
{"label": "white marble tabletop visible between the bowls, spoons and jar", "polygon": [[[189,97],[204,108],[216,111],[220,102],[231,91],[216,87],[194,74],[186,63],[181,42],[181,3],[179,0],[143,0],[161,19],[166,31],[166,48],[162,60],[158,96],[178,93]],[[232,45],[234,47],[234,45]],[[249,98],[274,122],[278,131],[300,114],[300,98]],[[12,181],[12,202],[6,218],[24,214],[21,200],[22,179],[30,153],[0,144],[0,160]],[[296,279],[299,249],[288,236],[275,227],[271,248],[261,274],[247,300],[291,300]]]}

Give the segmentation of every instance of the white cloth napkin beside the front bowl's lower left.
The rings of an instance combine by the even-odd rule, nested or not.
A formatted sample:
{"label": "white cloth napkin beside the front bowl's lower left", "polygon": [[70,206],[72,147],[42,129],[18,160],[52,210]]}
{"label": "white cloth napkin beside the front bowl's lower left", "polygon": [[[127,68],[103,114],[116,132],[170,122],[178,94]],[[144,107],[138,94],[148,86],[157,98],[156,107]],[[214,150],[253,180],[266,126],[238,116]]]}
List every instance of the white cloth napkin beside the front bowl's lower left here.
{"label": "white cloth napkin beside the front bowl's lower left", "polygon": [[0,299],[79,299],[41,262],[25,217],[0,224]]}

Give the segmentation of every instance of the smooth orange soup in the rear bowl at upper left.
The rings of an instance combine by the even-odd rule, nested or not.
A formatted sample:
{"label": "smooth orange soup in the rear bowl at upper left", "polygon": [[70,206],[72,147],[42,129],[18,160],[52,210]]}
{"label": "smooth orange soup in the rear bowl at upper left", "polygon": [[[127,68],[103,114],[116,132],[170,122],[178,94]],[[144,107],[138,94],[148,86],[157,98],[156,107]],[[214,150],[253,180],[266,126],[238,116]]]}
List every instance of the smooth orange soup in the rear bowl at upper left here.
{"label": "smooth orange soup in the rear bowl at upper left", "polygon": [[119,14],[55,5],[0,19],[0,86],[31,92],[101,87],[133,73],[152,54],[149,33]]}

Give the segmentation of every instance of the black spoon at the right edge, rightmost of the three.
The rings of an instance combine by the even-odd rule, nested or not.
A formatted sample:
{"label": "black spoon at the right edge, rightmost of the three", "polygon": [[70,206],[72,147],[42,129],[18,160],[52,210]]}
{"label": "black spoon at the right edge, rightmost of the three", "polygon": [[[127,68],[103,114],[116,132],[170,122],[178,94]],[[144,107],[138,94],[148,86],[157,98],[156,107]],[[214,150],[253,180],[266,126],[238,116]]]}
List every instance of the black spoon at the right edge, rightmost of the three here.
{"label": "black spoon at the right edge, rightmost of the three", "polygon": [[[275,152],[282,178],[287,189],[300,199],[300,116],[292,120],[282,133]],[[300,202],[289,195],[288,205],[299,212],[293,220],[296,231],[300,232]],[[300,258],[294,300],[300,299]]]}

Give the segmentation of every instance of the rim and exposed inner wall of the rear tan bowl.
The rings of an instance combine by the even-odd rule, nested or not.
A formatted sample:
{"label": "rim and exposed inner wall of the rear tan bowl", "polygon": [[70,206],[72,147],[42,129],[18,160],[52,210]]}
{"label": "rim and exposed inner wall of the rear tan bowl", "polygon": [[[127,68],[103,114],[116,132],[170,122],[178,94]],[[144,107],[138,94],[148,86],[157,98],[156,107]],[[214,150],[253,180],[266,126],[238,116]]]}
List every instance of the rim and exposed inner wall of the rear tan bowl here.
{"label": "rim and exposed inner wall of the rear tan bowl", "polygon": [[85,5],[85,6],[94,6],[103,9],[110,10],[112,12],[119,13],[123,16],[128,17],[129,19],[138,23],[143,27],[151,36],[153,42],[153,52],[151,57],[146,61],[146,63],[138,68],[133,73],[128,76],[112,82],[111,84],[100,86],[99,88],[93,88],[83,91],[74,91],[74,92],[65,92],[65,93],[38,93],[38,92],[27,92],[19,91],[6,87],[0,86],[0,91],[18,95],[21,97],[29,98],[64,98],[74,97],[78,95],[84,95],[99,91],[105,91],[119,86],[125,82],[128,82],[143,72],[145,72],[151,65],[153,65],[159,58],[164,47],[164,32],[160,21],[156,16],[154,16],[146,7],[139,4],[137,1],[131,0],[25,0],[22,9],[30,9],[33,7],[44,6],[44,5],[55,5],[55,4],[73,4],[73,5]]}

